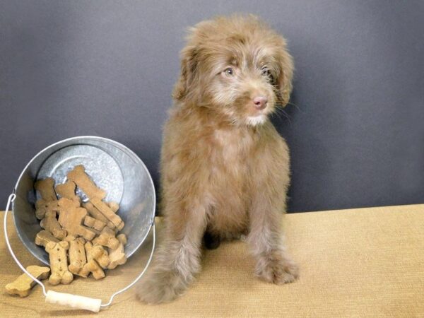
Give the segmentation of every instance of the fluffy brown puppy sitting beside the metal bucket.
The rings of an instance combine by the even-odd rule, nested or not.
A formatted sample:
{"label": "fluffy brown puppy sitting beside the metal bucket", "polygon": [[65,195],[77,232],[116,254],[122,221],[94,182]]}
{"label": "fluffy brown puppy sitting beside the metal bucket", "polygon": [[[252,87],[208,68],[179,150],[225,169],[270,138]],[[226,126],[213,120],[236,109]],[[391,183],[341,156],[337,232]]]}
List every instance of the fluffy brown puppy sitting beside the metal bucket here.
{"label": "fluffy brown puppy sitting beside the metal bucket", "polygon": [[285,40],[255,16],[191,28],[163,134],[165,237],[139,286],[141,301],[184,292],[200,270],[205,232],[209,247],[247,235],[255,273],[265,281],[298,277],[281,229],[288,147],[268,120],[277,104],[288,103],[292,74]]}

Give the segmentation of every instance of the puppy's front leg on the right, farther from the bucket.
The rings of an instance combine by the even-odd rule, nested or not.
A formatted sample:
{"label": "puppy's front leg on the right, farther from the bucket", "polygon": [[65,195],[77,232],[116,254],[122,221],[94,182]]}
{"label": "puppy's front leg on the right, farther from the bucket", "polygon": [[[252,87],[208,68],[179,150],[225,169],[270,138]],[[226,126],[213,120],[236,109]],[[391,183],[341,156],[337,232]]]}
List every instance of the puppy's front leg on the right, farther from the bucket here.
{"label": "puppy's front leg on the right, farther from the bucket", "polygon": [[257,259],[255,274],[270,283],[290,283],[298,278],[298,266],[283,245],[282,217],[285,194],[276,194],[263,184],[252,198],[249,210],[250,231],[247,237]]}

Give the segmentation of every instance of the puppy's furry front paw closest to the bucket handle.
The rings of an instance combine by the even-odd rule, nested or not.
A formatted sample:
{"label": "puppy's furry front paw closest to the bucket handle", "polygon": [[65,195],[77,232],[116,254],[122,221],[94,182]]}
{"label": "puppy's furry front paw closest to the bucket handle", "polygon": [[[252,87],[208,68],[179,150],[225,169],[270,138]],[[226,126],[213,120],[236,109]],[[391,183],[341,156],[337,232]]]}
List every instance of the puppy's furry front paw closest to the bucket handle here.
{"label": "puppy's furry front paw closest to the bucket handle", "polygon": [[146,280],[139,283],[136,298],[148,304],[170,302],[182,295],[185,288],[184,281],[175,273],[152,273]]}

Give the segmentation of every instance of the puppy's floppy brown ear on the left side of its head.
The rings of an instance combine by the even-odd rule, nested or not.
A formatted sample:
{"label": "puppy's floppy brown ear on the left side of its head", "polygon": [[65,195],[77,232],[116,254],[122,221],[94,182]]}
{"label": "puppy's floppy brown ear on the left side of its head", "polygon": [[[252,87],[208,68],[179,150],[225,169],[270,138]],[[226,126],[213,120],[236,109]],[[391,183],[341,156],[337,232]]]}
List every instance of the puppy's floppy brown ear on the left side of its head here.
{"label": "puppy's floppy brown ear on the left side of its head", "polygon": [[187,45],[181,51],[181,73],[175,84],[172,97],[184,100],[196,78],[198,52],[194,45]]}

